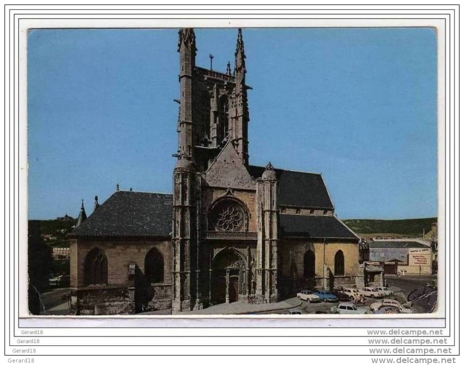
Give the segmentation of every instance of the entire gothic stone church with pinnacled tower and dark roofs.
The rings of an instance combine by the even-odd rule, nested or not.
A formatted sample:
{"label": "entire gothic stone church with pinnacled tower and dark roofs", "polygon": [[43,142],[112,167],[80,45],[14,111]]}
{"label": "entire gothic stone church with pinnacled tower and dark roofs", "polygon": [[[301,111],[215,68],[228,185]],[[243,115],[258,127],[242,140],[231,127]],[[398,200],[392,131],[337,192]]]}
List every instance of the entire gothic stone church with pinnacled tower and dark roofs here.
{"label": "entire gothic stone church with pinnacled tower and dark roofs", "polygon": [[191,28],[177,50],[172,194],[116,187],[88,217],[82,204],[69,234],[71,314],[194,313],[353,284],[359,237],[336,217],[322,175],[248,162],[241,29],[225,72],[195,65]]}

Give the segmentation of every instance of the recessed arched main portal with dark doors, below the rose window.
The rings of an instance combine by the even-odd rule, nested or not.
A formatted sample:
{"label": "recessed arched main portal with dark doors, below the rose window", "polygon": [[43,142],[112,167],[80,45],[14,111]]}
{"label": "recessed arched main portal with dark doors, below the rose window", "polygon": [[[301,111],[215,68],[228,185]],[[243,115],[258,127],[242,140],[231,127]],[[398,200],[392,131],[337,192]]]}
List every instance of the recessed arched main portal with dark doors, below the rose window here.
{"label": "recessed arched main portal with dark doors, below the rose window", "polygon": [[220,251],[211,269],[211,304],[232,303],[245,293],[245,261],[236,250]]}

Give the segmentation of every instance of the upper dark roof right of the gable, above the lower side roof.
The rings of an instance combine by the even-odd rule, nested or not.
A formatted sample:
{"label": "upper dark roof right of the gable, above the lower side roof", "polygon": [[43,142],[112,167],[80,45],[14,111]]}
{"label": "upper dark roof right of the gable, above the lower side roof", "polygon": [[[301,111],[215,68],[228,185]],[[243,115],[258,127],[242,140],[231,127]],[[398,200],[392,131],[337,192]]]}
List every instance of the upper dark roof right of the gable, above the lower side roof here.
{"label": "upper dark roof right of the gable, above the lower side roof", "polygon": [[[265,167],[248,166],[250,175],[261,177]],[[278,204],[333,209],[320,173],[298,172],[275,168],[278,180]]]}

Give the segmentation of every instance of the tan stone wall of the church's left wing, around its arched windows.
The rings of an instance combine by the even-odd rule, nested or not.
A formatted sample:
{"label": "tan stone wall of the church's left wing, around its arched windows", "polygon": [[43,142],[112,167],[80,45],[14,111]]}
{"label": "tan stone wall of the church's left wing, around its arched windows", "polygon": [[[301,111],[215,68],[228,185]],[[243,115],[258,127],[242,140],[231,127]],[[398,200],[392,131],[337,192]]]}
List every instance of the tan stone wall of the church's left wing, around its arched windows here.
{"label": "tan stone wall of the church's left wing, around its arched windows", "polygon": [[[102,240],[72,239],[70,242],[71,306],[76,315],[132,314],[171,307],[170,239]],[[85,257],[99,248],[108,262],[106,285],[85,286]],[[144,277],[145,256],[155,247],[163,256],[163,282]],[[129,276],[129,264],[135,272]],[[74,298],[72,298],[72,296]],[[73,303],[72,303],[73,302]]]}

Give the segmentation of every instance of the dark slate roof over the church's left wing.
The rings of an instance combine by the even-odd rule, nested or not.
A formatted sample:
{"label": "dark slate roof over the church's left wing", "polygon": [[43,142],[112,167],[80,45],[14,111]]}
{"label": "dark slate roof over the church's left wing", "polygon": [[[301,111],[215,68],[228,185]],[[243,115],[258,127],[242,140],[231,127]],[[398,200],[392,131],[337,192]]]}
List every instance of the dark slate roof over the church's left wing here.
{"label": "dark slate roof over the church's left wing", "polygon": [[168,236],[172,195],[116,191],[70,236]]}

